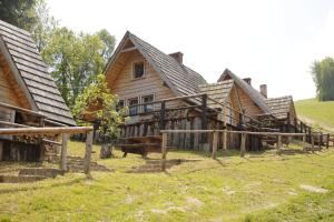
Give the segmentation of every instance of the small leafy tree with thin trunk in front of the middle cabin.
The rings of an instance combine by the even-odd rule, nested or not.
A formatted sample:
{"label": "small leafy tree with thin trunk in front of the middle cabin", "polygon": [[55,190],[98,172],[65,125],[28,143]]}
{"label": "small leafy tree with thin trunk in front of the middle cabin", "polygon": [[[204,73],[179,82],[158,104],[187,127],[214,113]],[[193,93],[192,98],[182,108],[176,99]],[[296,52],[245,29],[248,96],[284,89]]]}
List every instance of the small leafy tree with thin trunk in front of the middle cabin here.
{"label": "small leafy tree with thin trunk in front of the middle cabin", "polygon": [[107,87],[106,77],[98,74],[95,83],[85,89],[73,107],[77,120],[95,119],[98,130],[102,134],[101,157],[111,155],[110,148],[106,147],[106,138],[115,138],[119,132],[119,124],[124,120],[126,108],[118,109],[118,98],[111,94]]}

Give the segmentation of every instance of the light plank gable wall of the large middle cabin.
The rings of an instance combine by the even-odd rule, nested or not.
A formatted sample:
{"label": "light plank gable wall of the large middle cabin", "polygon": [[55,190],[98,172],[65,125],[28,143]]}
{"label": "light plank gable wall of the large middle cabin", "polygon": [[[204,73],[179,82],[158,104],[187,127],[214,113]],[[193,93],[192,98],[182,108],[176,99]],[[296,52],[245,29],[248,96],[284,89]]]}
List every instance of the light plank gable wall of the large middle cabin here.
{"label": "light plank gable wall of the large middle cabin", "polygon": [[[117,94],[119,99],[125,100],[127,105],[128,99],[139,97],[141,103],[141,97],[148,94],[154,94],[155,101],[176,97],[173,91],[164,84],[156,70],[145,61],[145,58],[137,50],[130,53],[131,56],[128,58],[120,73],[108,73],[117,74],[114,82],[108,82],[114,94]],[[132,63],[138,61],[145,61],[145,78],[134,80]],[[156,104],[155,109],[158,109],[158,105],[159,104]],[[168,102],[167,105],[167,108],[179,107],[181,105],[181,102]]]}

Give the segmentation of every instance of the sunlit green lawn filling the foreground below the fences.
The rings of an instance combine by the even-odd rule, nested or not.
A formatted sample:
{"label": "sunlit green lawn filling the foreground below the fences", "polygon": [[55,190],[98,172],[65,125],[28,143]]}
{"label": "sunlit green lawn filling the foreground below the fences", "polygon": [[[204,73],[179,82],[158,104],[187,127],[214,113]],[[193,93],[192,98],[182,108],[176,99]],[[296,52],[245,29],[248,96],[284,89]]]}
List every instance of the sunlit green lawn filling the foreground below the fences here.
{"label": "sunlit green lawn filling the foreground below the fences", "polygon": [[[70,153],[84,154],[84,143],[69,144]],[[288,155],[272,150],[246,158],[234,151],[219,153],[218,160],[173,151],[168,159],[199,161],[161,173],[127,173],[145,160],[122,159],[119,151],[99,160],[98,147],[94,150],[92,159],[114,172],[92,172],[92,180],[67,173],[30,184],[0,183],[0,221],[334,220],[334,150]],[[301,184],[328,192],[313,193]]]}

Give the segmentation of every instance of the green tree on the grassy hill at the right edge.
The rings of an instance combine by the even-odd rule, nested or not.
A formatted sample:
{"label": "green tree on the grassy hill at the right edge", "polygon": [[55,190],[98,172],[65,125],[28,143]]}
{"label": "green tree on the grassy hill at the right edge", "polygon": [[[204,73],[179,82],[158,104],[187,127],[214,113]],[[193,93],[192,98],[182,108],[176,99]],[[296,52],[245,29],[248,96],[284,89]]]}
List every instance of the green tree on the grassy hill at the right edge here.
{"label": "green tree on the grassy hill at the right edge", "polygon": [[312,65],[312,75],[321,101],[334,100],[334,60],[325,58]]}

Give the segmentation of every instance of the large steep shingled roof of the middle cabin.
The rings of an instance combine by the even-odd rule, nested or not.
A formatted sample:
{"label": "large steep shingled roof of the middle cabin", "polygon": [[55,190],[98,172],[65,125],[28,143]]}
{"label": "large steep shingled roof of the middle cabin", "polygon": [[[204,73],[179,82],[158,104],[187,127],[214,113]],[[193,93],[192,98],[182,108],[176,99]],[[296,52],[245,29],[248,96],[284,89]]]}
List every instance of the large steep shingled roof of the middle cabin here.
{"label": "large steep shingled roof of the middle cabin", "polygon": [[107,73],[107,71],[111,68],[128,39],[149,62],[149,64],[154,67],[161,80],[177,97],[199,93],[198,85],[206,83],[205,79],[199,73],[179,63],[173,57],[161,52],[129,31],[126,32],[115,53],[107,63],[105,73]]}

